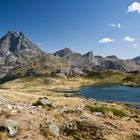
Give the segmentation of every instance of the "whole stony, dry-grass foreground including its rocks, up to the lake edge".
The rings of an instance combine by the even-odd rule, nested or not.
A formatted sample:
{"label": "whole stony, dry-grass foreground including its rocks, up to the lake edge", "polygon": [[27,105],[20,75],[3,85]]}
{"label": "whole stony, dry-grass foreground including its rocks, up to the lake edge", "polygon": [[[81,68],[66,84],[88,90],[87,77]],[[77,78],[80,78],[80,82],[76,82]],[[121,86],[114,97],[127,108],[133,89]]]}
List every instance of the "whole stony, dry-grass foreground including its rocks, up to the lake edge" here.
{"label": "whole stony, dry-grass foreground including its rocks, up to the lake edge", "polygon": [[1,85],[0,140],[139,140],[139,110],[66,94],[96,82],[22,78]]}

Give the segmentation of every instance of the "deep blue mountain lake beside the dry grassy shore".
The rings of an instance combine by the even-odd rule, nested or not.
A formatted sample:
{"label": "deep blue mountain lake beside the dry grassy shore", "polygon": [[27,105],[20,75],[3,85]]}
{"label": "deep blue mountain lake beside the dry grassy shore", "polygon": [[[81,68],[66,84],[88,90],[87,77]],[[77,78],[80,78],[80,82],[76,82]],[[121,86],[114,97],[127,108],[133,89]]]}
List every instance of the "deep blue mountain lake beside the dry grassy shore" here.
{"label": "deep blue mountain lake beside the dry grassy shore", "polygon": [[105,101],[119,101],[140,107],[140,88],[121,85],[88,86],[80,89],[81,96]]}

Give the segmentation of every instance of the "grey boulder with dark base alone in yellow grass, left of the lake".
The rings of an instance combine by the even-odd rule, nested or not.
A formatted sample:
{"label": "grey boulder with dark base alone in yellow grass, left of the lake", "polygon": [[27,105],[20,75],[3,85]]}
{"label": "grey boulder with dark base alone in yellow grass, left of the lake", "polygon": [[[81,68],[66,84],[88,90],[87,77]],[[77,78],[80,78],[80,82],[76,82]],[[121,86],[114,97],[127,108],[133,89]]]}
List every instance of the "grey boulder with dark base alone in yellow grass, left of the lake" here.
{"label": "grey boulder with dark base alone in yellow grass, left of the lake", "polygon": [[52,102],[48,100],[47,97],[39,98],[36,103],[33,103],[33,106],[48,106],[52,107]]}

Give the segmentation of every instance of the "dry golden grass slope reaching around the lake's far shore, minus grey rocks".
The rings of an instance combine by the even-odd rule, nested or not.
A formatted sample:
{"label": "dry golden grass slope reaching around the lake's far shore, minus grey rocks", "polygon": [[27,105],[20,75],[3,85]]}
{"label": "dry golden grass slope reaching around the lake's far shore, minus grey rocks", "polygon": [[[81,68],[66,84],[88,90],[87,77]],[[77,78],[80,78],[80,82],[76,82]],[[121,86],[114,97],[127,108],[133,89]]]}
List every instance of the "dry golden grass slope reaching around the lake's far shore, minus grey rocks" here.
{"label": "dry golden grass slope reaching around the lake's far shore, minus grey rocks", "polygon": [[[8,117],[9,119],[18,121],[20,124],[18,139],[22,140],[26,134],[29,139],[40,140],[94,140],[99,138],[107,140],[128,140],[131,137],[133,138],[133,136],[139,137],[140,118],[135,110],[129,110],[127,106],[118,103],[96,102],[78,97],[64,97],[64,93],[57,93],[53,90],[65,89],[72,91],[85,85],[106,82],[119,83],[123,76],[125,77],[126,74],[105,71],[96,73],[96,76],[84,78],[24,77],[1,85],[0,93],[11,104],[20,108],[17,114]],[[37,108],[37,113],[32,114],[28,108],[39,97],[44,96],[48,97],[54,107],[51,109]],[[27,109],[26,107],[21,109],[24,104]],[[84,108],[85,106],[90,106],[91,110],[87,110]],[[81,111],[77,111],[78,108]],[[64,110],[66,110],[66,113],[61,113]],[[96,116],[94,112],[96,113],[97,111],[102,112],[103,117]],[[124,112],[127,115],[124,115]],[[47,125],[49,120],[53,120],[55,124],[62,128],[62,136],[57,138],[49,132]],[[82,120],[82,123],[78,120]],[[3,121],[3,119],[1,118],[0,121]],[[41,128],[39,128],[40,124],[42,124]],[[72,129],[66,127],[69,126],[68,124],[71,124]],[[63,133],[67,135],[65,136]]]}

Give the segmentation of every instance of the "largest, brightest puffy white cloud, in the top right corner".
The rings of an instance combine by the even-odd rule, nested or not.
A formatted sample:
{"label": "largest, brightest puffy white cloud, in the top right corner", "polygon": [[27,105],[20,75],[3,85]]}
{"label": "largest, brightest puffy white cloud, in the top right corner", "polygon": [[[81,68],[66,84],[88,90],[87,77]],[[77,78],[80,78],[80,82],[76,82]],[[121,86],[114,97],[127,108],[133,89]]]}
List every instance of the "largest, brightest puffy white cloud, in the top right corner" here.
{"label": "largest, brightest puffy white cloud, in the top right corner", "polygon": [[138,2],[132,3],[128,7],[128,10],[127,10],[127,13],[129,13],[129,12],[138,12],[138,13],[140,13],[140,3],[138,3]]}

